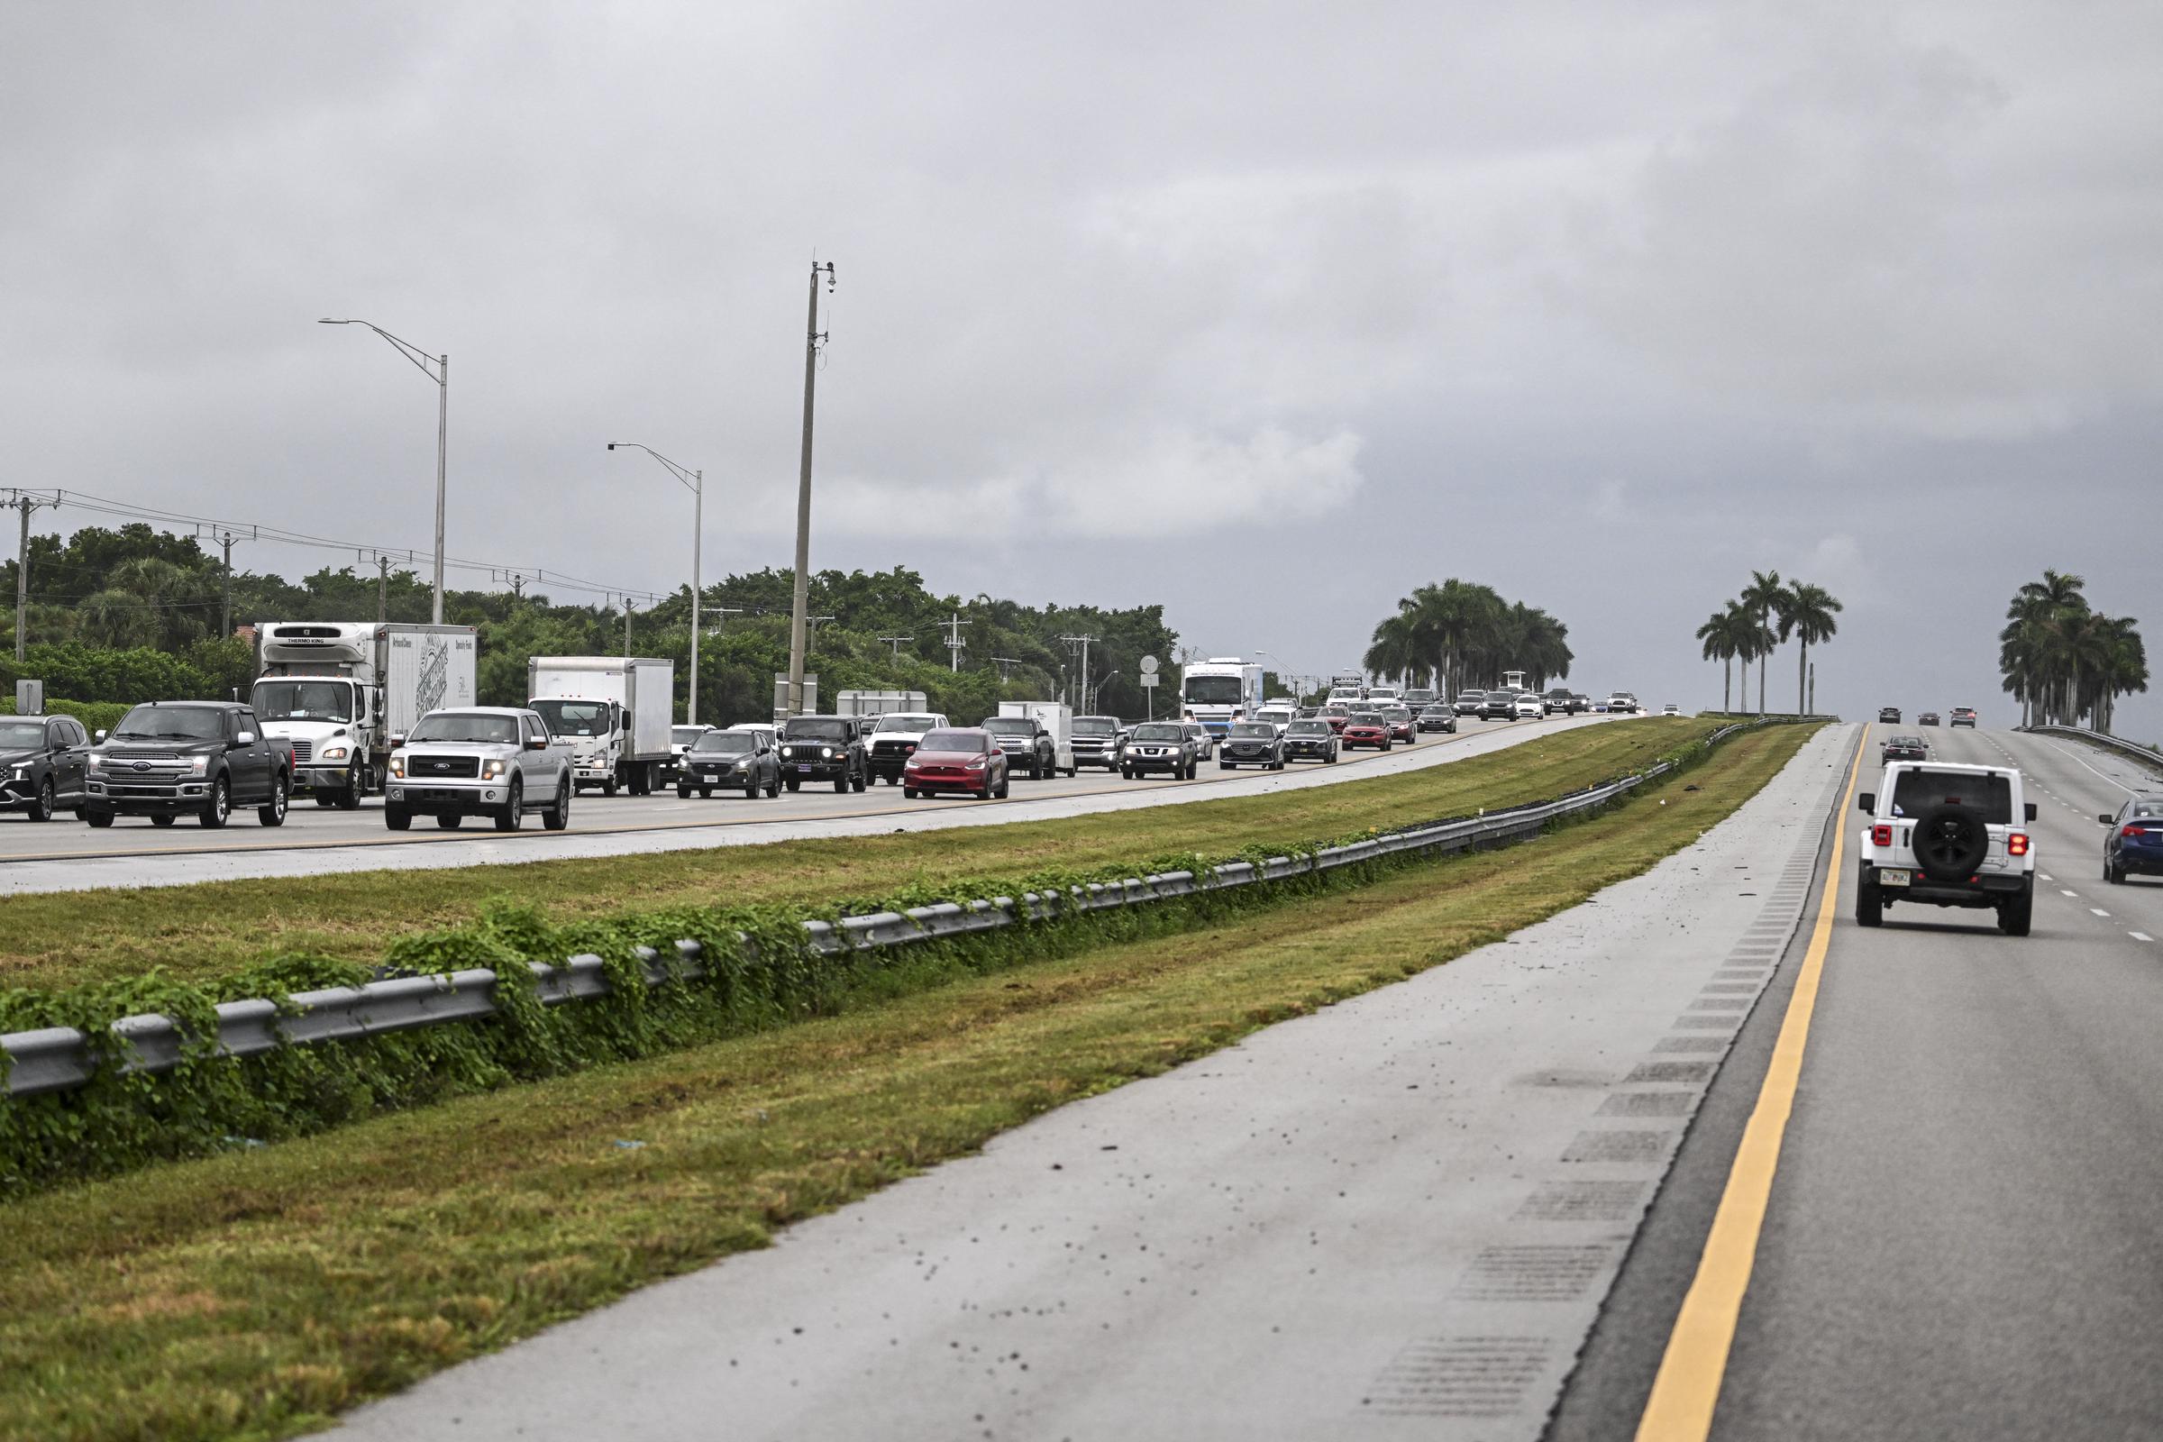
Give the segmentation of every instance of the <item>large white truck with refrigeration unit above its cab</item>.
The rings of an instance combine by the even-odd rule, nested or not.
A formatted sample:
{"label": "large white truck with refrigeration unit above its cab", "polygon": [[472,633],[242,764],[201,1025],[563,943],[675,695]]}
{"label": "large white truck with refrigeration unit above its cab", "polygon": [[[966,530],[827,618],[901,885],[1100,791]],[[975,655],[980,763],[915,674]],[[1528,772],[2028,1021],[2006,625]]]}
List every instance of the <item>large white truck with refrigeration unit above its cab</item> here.
{"label": "large white truck with refrigeration unit above its cab", "polygon": [[353,811],[383,789],[392,737],[428,711],[474,705],[474,627],[266,620],[249,705],[292,744],[292,789]]}

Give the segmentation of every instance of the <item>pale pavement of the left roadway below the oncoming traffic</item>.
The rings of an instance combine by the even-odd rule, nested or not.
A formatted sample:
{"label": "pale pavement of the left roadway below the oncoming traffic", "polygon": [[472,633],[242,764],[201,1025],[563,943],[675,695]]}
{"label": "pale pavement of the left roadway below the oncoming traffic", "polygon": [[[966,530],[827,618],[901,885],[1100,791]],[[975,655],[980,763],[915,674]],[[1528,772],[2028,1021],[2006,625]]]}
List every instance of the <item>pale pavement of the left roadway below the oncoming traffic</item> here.
{"label": "pale pavement of the left roadway below the oncoming traffic", "polygon": [[119,817],[110,828],[93,830],[65,813],[43,826],[0,815],[0,895],[634,856],[796,837],[1036,822],[1389,776],[1607,720],[1607,716],[1555,716],[1542,722],[1462,720],[1456,735],[1430,735],[1389,752],[1350,752],[1337,765],[1296,763],[1285,772],[1252,767],[1224,772],[1216,761],[1207,761],[1194,780],[1155,776],[1125,780],[1101,770],[1047,780],[1023,776],[1012,783],[1012,796],[1004,802],[954,796],[904,800],[900,787],[887,785],[846,796],[831,789],[783,791],[772,800],[744,800],[735,793],[677,800],[673,789],[614,798],[586,791],[573,802],[571,828],[565,832],[543,830],[539,815],[528,815],[526,828],[515,835],[497,832],[487,819],[467,819],[459,830],[437,830],[424,817],[415,819],[409,832],[392,832],[383,826],[381,800],[370,800],[359,811],[303,802],[279,828],[260,826],[253,811],[236,811],[227,828],[214,832],[193,822],[151,826],[141,817]]}

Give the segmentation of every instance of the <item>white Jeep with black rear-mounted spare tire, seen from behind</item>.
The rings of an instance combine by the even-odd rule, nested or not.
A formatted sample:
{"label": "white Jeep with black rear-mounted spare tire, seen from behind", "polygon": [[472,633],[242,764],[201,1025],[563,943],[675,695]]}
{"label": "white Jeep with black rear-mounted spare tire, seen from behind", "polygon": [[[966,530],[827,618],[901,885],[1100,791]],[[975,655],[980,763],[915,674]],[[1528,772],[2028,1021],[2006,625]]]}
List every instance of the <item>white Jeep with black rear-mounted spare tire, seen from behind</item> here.
{"label": "white Jeep with black rear-mounted spare tire, seen from behind", "polygon": [[2035,912],[2035,843],[2020,772],[2007,765],[1893,761],[1877,791],[1856,873],[1856,925],[1880,925],[1895,902],[1988,906],[1999,930],[2027,936]]}

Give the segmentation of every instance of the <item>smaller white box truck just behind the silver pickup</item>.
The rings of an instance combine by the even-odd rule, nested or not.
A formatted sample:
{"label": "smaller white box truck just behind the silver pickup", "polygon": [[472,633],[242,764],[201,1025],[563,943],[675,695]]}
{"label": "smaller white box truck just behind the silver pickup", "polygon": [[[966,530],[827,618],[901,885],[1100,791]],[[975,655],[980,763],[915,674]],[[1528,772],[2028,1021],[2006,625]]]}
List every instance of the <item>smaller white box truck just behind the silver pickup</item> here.
{"label": "smaller white box truck just behind the silver pickup", "polygon": [[675,662],[621,655],[536,655],[526,705],[571,746],[571,785],[649,796],[668,763]]}

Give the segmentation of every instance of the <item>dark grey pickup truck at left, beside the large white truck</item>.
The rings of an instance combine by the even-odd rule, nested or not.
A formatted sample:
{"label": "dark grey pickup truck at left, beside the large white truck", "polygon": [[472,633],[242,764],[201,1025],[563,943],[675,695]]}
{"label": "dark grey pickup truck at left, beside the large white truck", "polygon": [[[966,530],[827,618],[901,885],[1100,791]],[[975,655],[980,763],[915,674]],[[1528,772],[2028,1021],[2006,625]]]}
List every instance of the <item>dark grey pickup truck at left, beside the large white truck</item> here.
{"label": "dark grey pickup truck at left, beside the large white truck", "polygon": [[264,826],[286,824],[292,748],[264,737],[255,711],[236,700],[151,700],[132,709],[91,748],[82,819],[112,826],[147,815],[171,826],[193,815],[225,826],[234,806],[255,806]]}

